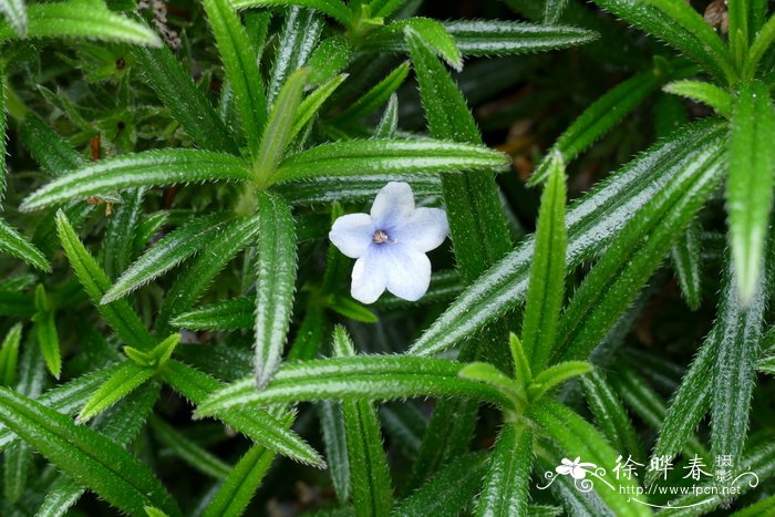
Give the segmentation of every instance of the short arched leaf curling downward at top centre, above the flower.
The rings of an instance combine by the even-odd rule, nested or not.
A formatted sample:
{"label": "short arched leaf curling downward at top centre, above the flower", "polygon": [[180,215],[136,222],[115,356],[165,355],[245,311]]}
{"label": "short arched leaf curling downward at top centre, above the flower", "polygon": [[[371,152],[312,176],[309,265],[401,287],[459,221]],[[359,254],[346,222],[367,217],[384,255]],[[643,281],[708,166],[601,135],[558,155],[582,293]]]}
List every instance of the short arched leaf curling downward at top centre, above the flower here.
{"label": "short arched leaf curling downward at top centre, above the flower", "polygon": [[463,56],[455,39],[444,25],[431,18],[413,17],[373,30],[360,44],[361,49],[379,52],[405,52],[404,33],[411,31],[422,38],[427,49],[442,58],[450,66],[463,70]]}

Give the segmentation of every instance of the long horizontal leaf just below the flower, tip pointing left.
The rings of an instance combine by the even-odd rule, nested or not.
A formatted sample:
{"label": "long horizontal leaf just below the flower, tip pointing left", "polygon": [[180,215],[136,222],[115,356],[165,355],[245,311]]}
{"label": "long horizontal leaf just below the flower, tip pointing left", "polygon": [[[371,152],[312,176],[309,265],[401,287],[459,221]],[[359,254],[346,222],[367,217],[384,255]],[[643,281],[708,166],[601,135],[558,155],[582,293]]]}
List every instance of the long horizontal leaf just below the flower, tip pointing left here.
{"label": "long horizontal leaf just below the flower, tip pointing left", "polygon": [[411,355],[359,355],[288,363],[264,390],[246,379],[199,404],[207,416],[242,405],[322,400],[388,401],[410,396],[463,396],[510,407],[512,400],[488,384],[463,379],[463,364]]}

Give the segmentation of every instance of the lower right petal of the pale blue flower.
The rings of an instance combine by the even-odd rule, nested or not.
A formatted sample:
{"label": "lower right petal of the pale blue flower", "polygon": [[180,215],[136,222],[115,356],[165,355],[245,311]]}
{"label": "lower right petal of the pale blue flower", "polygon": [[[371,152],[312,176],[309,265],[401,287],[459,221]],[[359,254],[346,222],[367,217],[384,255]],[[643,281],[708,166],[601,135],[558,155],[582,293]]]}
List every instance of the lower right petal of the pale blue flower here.
{"label": "lower right petal of the pale blue flower", "polygon": [[388,290],[407,301],[420,300],[431,285],[431,261],[420,251],[401,245],[391,245]]}

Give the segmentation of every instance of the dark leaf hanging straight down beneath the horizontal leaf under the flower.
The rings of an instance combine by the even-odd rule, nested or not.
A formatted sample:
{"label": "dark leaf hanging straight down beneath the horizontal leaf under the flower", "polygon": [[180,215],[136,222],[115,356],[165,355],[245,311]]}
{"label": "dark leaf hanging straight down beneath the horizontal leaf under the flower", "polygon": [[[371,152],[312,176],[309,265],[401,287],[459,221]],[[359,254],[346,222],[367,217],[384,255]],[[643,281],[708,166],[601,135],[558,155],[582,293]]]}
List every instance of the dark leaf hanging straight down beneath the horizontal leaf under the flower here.
{"label": "dark leaf hanging straight down beneath the horizontal leaf under the flower", "polygon": [[326,444],[331,482],[337,493],[337,499],[344,505],[350,499],[350,459],[344,431],[342,406],[331,401],[322,401],[318,405],[320,427]]}

